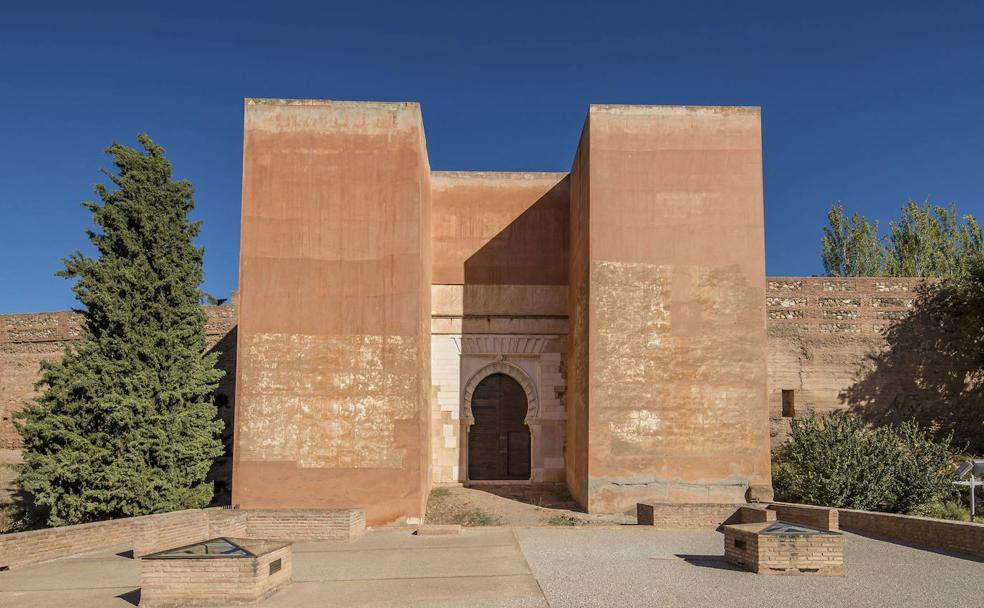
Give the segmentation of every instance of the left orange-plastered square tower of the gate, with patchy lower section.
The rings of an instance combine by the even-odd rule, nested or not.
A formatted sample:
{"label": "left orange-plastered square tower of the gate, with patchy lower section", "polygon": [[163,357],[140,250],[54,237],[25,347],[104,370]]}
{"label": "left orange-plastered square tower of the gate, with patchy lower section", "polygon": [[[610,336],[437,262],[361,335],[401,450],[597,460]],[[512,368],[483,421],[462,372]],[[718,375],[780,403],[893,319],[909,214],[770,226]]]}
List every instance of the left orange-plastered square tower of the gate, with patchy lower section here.
{"label": "left orange-plastered square tower of the gate, with patchy lower section", "polygon": [[423,515],[429,180],[417,104],[247,100],[233,504]]}

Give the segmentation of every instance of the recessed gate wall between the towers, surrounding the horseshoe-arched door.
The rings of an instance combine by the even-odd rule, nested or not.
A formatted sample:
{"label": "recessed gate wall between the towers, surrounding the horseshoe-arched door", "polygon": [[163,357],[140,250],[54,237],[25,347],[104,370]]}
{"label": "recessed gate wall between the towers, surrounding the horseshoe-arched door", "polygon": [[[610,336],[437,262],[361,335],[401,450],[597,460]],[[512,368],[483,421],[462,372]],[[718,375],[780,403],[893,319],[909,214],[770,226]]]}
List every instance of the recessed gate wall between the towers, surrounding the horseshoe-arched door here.
{"label": "recessed gate wall between the towers, surrounding the horseshoe-arched door", "polygon": [[531,479],[559,481],[567,174],[435,172],[431,184],[433,478],[466,481],[469,387],[505,369],[529,391]]}

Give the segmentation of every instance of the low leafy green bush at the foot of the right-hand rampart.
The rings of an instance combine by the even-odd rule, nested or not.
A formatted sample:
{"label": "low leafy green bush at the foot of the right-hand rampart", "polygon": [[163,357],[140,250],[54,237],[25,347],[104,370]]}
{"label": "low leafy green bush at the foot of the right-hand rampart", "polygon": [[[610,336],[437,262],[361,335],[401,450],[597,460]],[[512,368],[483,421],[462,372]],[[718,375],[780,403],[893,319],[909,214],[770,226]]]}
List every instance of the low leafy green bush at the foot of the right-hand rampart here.
{"label": "low leafy green bush at the foot of the right-hand rampart", "polygon": [[954,495],[950,438],[933,441],[913,422],[872,428],[860,417],[793,420],[773,470],[780,500],[910,513]]}

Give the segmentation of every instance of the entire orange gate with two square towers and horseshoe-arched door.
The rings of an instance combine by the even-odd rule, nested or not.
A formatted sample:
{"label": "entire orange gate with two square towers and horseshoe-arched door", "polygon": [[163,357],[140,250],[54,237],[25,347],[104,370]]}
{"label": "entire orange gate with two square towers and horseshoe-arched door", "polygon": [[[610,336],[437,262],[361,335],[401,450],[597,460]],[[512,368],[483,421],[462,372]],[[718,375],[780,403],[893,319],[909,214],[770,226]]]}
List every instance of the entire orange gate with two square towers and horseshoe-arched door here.
{"label": "entire orange gate with two square towers and horseshoe-arched door", "polygon": [[243,158],[234,504],[768,487],[757,109],[592,106],[570,173],[464,173],[416,104],[251,99]]}

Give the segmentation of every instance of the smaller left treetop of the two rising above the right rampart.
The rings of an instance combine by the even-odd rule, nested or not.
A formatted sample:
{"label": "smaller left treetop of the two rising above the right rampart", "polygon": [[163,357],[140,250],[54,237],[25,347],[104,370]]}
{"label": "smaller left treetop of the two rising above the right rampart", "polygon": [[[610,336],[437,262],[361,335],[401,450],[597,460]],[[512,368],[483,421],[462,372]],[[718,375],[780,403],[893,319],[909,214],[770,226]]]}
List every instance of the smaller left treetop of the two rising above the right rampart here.
{"label": "smaller left treetop of the two rising above the right rampart", "polygon": [[823,229],[821,257],[827,276],[880,276],[884,269],[884,246],[878,238],[878,222],[871,224],[864,216],[844,212],[836,203],[827,212],[829,226]]}

